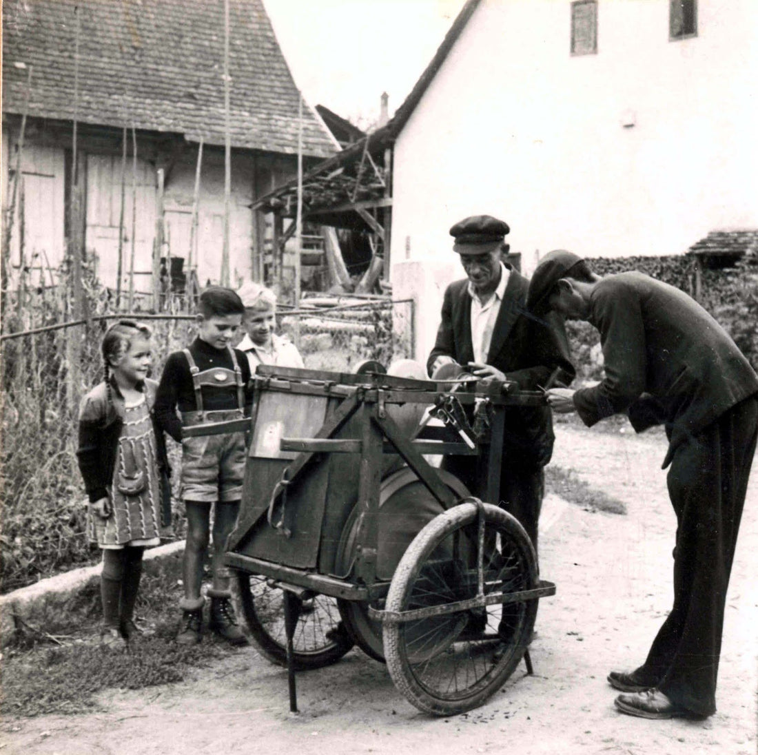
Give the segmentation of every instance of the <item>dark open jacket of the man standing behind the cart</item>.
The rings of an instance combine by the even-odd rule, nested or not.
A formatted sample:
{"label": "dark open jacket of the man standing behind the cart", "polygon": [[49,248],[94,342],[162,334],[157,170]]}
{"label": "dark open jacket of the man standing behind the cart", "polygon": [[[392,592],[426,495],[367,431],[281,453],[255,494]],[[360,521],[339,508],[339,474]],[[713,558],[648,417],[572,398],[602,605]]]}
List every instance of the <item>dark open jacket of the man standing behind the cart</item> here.
{"label": "dark open jacket of the man standing behind the cart", "polygon": [[[562,321],[534,318],[526,310],[528,280],[511,269],[503,302],[492,331],[485,360],[518,383],[522,390],[544,387],[559,369],[554,381],[568,385],[575,371],[569,359]],[[452,356],[460,365],[474,361],[471,343],[471,294],[468,279],[456,280],[445,291],[442,321],[427,369],[440,355]],[[506,465],[543,466],[553,453],[553,422],[550,408],[511,407],[506,410]]]}

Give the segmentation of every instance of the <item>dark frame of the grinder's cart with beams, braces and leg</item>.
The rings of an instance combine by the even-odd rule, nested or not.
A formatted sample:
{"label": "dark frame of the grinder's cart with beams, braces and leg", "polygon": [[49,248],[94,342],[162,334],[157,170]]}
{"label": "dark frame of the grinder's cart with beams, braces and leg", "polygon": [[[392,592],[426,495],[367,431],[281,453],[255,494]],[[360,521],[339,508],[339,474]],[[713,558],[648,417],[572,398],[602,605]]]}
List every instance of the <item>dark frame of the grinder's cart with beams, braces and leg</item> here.
{"label": "dark frame of the grinder's cart with beams, braces and leg", "polygon": [[[281,472],[270,490],[256,490],[255,500],[243,497],[240,518],[227,543],[225,562],[239,572],[261,575],[271,585],[283,589],[284,623],[287,630],[287,667],[290,681],[290,709],[296,710],[295,663],[292,640],[299,619],[302,597],[321,594],[340,600],[361,601],[368,604],[370,619],[399,625],[420,619],[447,616],[471,609],[484,609],[494,604],[536,601],[555,594],[555,584],[538,580],[530,589],[515,592],[489,591],[483,563],[485,551],[485,520],[487,504],[474,497],[457,500],[456,493],[440,478],[439,471],[424,459],[424,455],[479,456],[488,449],[486,500],[497,501],[500,487],[503,440],[506,427],[504,415],[510,406],[543,406],[543,394],[518,391],[515,384],[493,383],[483,387],[469,381],[419,381],[396,378],[387,374],[345,374],[295,368],[258,367],[255,376],[255,403],[252,420],[245,427],[255,429],[260,399],[274,391],[286,397],[288,393],[301,396],[326,396],[339,401],[336,408],[327,412],[321,429],[314,437],[281,437],[281,452],[296,453]],[[393,418],[396,407],[420,404],[432,408],[431,413],[443,420],[443,426],[434,427],[423,422],[411,434],[403,432]],[[462,414],[471,416],[475,407],[487,407],[490,432],[487,437],[476,437]],[[457,410],[457,411],[456,411]],[[351,419],[358,420],[356,437],[336,437]],[[228,432],[243,426],[240,421],[206,425],[205,434]],[[287,562],[277,562],[241,553],[252,532],[264,532],[266,538],[288,538],[298,527],[298,511],[288,491],[302,482],[309,470],[324,464],[332,454],[349,454],[359,460],[357,495],[346,491],[346,500],[338,505],[358,506],[356,555],[349,578],[320,573],[316,569],[302,569]],[[383,463],[387,454],[396,454],[410,468],[418,481],[435,500],[449,511],[460,503],[477,507],[478,556],[476,565],[476,594],[465,600],[453,600],[445,605],[422,606],[411,610],[387,610],[376,607],[387,597],[390,581],[377,578],[378,527],[380,489]],[[252,456],[252,450],[250,451]],[[251,496],[252,497],[252,496]],[[262,505],[268,501],[268,505]],[[323,516],[321,522],[323,522]],[[515,521],[515,520],[514,520]],[[319,525],[321,525],[319,522]],[[528,537],[527,537],[528,540]],[[531,544],[530,544],[531,545]],[[469,578],[474,579],[473,569]],[[470,586],[471,588],[473,585]],[[535,608],[536,611],[536,608]],[[531,659],[524,647],[524,658],[531,673]],[[391,669],[390,669],[391,672]],[[411,700],[413,702],[413,700]]]}

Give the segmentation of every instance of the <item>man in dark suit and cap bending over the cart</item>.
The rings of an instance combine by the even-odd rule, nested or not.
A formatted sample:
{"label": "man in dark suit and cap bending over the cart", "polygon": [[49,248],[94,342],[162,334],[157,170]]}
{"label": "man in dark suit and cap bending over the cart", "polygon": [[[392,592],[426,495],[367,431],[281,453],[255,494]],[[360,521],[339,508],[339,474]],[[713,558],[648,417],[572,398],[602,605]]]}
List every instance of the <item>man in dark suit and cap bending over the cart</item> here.
{"label": "man in dark suit and cap bending over the cart", "polygon": [[[674,605],[647,659],[611,672],[623,713],[702,718],[716,711],[724,604],[758,434],[758,376],[722,327],[675,287],[638,272],[599,277],[562,249],[531,279],[536,316],[559,312],[600,331],[603,381],[549,391],[584,424],[625,412],[634,430],[663,424],[663,468],[677,518]],[[669,466],[670,465],[670,466]]]}

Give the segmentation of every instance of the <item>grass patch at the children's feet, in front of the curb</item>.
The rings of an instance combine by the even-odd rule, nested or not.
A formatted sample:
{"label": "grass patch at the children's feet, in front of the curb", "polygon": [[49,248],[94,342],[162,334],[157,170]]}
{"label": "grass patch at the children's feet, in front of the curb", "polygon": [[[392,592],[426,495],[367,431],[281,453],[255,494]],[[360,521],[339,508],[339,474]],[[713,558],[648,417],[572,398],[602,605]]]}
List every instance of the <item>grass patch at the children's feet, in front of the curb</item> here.
{"label": "grass patch at the children's feet, in front of the curb", "polygon": [[234,653],[205,635],[202,644],[174,642],[180,619],[180,587],[168,575],[143,577],[137,612],[149,634],[128,652],[99,646],[99,601],[96,612],[74,616],[61,644],[28,635],[6,648],[2,662],[4,716],[46,713],[91,713],[93,696],[109,688],[142,689],[182,681],[193,669]]}

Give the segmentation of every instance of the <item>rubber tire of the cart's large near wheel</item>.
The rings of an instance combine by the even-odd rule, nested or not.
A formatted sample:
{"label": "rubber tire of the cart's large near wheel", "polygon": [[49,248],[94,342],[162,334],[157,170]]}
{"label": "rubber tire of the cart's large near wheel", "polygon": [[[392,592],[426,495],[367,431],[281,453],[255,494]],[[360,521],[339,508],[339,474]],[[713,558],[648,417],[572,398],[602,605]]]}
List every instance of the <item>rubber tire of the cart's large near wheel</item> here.
{"label": "rubber tire of the cart's large near wheel", "polygon": [[[501,538],[506,538],[508,541],[509,552],[514,553],[514,557],[517,559],[516,568],[519,570],[517,589],[536,587],[539,581],[537,558],[525,529],[512,515],[497,506],[485,503],[484,512],[485,532],[492,533],[493,529],[500,531]],[[440,547],[453,531],[460,530],[467,525],[476,527],[476,524],[477,506],[475,503],[462,503],[429,522],[413,540],[399,562],[390,584],[390,591],[387,594],[387,610],[405,610],[412,596],[415,580],[421,574],[429,556]],[[437,562],[439,562],[438,558],[439,556],[435,559]],[[463,691],[456,690],[454,694],[447,695],[425,686],[415,673],[413,660],[409,660],[409,649],[406,647],[404,631],[402,630],[402,627],[409,626],[413,631],[412,622],[408,625],[385,622],[383,631],[384,656],[387,659],[387,669],[396,688],[418,710],[431,713],[434,716],[464,713],[466,710],[481,705],[503,686],[524,656],[529,638],[531,638],[531,631],[534,628],[537,603],[537,600],[530,600],[512,604],[519,606],[518,619],[512,628],[510,642],[502,645],[504,648],[503,655],[499,659],[493,659],[491,669],[480,680],[475,681],[470,688],[465,688]],[[458,614],[449,616],[458,616]],[[424,621],[430,622],[432,619],[424,619]],[[455,626],[465,624],[465,621],[459,621],[456,622]],[[452,647],[452,643],[446,647],[440,647],[439,652],[433,657],[440,658]],[[471,658],[470,655],[469,658]],[[428,662],[428,658],[420,658],[419,665],[421,665],[421,661]],[[426,666],[430,665],[430,663],[426,663]],[[487,677],[490,678],[487,679]],[[468,675],[466,675],[466,679],[468,680]]]}

